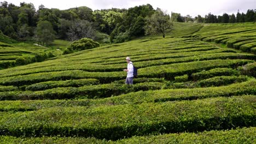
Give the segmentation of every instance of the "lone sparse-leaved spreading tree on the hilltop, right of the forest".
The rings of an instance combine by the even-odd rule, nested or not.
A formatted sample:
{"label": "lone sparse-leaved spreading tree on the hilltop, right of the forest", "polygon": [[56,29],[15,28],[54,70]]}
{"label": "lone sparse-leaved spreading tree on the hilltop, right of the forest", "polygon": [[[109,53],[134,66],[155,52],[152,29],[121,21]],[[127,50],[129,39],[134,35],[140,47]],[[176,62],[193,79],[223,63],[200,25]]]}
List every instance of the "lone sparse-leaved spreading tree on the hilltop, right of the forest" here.
{"label": "lone sparse-leaved spreading tree on the hilltop, right of the forest", "polygon": [[166,31],[172,26],[170,16],[158,8],[152,16],[147,18],[145,32],[146,34],[161,33],[162,37],[165,38]]}

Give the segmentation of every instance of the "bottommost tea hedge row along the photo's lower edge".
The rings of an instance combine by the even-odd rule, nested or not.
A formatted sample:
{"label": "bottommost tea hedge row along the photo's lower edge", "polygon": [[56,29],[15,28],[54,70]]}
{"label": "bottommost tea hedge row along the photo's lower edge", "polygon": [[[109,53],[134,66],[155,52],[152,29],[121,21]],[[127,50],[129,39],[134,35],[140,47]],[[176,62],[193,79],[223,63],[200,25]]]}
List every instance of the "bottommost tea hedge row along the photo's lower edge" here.
{"label": "bottommost tea hedge row along the photo's lower edge", "polygon": [[241,128],[231,130],[212,130],[202,133],[162,134],[151,136],[133,136],[130,139],[118,141],[99,140],[94,137],[14,137],[0,136],[3,143],[252,143],[255,141],[256,128]]}

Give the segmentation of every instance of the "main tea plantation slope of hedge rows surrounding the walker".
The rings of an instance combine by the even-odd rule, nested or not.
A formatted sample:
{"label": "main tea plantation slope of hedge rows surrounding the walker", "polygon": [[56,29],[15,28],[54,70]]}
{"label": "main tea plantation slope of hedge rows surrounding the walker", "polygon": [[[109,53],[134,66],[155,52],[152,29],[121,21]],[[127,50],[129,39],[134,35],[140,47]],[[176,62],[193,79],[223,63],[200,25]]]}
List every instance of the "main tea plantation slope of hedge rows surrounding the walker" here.
{"label": "main tea plantation slope of hedge rows surrounding the walker", "polygon": [[175,23],[2,69],[0,143],[255,143],[255,44],[256,23]]}

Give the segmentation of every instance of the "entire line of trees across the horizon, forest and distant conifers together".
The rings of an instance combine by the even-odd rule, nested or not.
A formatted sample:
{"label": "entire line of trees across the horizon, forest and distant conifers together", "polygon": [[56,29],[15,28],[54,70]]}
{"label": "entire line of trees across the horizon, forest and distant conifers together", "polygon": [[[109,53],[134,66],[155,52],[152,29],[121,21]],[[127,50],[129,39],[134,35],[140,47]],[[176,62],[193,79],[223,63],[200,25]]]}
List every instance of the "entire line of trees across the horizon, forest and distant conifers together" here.
{"label": "entire line of trees across the horizon, forest and distant conifers together", "polygon": [[[16,6],[6,1],[0,3],[0,34],[22,41],[37,41],[40,45],[50,44],[54,39],[78,40],[90,38],[100,43],[121,43],[146,34],[162,33],[177,22],[252,22],[256,19],[256,10],[246,14],[239,12],[223,16],[211,13],[181,16],[172,13],[171,18],[152,5],[139,5],[129,9],[95,10],[88,7],[67,10],[48,9],[39,5],[38,10],[32,3],[20,3]],[[165,23],[163,25],[162,23]]]}

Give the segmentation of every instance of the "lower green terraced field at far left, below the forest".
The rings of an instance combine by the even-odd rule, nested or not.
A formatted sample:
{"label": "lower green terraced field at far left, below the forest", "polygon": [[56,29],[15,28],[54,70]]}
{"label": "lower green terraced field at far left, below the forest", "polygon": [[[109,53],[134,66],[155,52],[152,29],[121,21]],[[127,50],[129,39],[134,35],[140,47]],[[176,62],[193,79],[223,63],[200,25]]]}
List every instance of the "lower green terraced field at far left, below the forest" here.
{"label": "lower green terraced field at far left, below the forest", "polygon": [[0,69],[41,62],[44,59],[62,55],[69,44],[65,40],[55,40],[51,46],[44,47],[18,42],[0,34]]}

